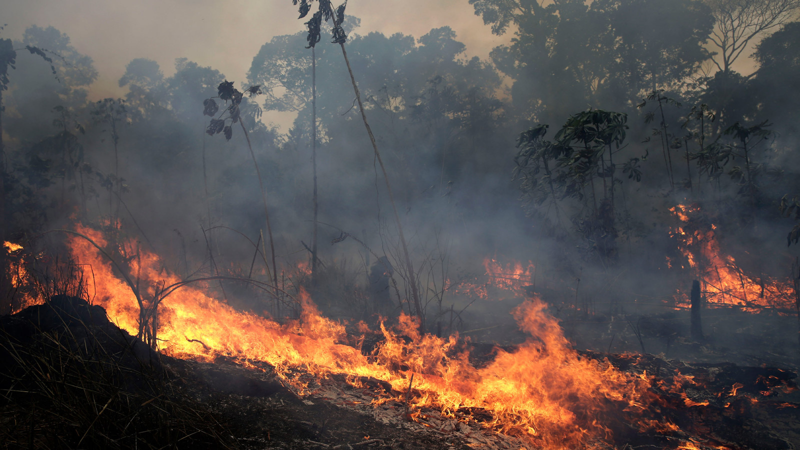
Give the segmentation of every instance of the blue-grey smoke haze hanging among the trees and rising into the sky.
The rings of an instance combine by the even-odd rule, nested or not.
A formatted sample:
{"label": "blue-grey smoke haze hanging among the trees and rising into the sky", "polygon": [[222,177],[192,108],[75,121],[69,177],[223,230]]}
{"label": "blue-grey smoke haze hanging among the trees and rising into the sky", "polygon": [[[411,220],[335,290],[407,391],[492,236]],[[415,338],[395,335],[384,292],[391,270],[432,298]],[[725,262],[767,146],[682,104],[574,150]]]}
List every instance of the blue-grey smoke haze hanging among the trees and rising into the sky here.
{"label": "blue-grey smoke haze hanging among the trees and rising into the sky", "polygon": [[[184,277],[262,276],[265,261],[271,262],[260,175],[278,270],[282,282],[293,283],[286,279],[309,260],[306,247],[312,245],[314,175],[310,50],[287,3],[248,4],[245,10],[220,9],[212,2],[87,3],[94,15],[65,10],[61,3],[42,3],[35,10],[2,6],[4,17],[17,19],[3,31],[14,36],[15,48],[30,44],[59,55],[55,79],[42,58],[20,51],[3,95],[4,142],[13,175],[26,187],[26,199],[47,211],[46,218],[15,220],[34,228],[119,219],[127,233]],[[581,345],[607,350],[616,340],[616,350],[637,348],[631,330],[646,328],[646,320],[654,317],[674,319],[669,315],[678,314],[675,295],[698,277],[690,268],[678,270],[689,267],[680,242],[670,235],[680,223],[670,211],[678,203],[702,204],[698,226],[714,225],[722,251],[743,273],[754,279],[788,276],[794,248],[786,250],[784,236],[791,223],[779,217],[774,203],[800,189],[792,176],[796,155],[787,151],[796,147],[794,138],[770,135],[750,143],[755,161],[750,168],[758,171],[758,191],[752,195],[742,190],[747,183],[741,176],[731,175],[734,167],[747,171],[741,152],[725,153],[738,145],[726,128],[738,120],[760,121],[755,117],[762,111],[759,102],[767,97],[742,106],[750,108],[749,115],[734,118],[727,110],[718,121],[702,125],[697,115],[687,119],[691,107],[698,100],[714,104],[730,92],[726,86],[701,89],[700,95],[676,81],[660,94],[671,102],[650,99],[642,108],[635,105],[646,91],[614,98],[614,108],[627,114],[628,127],[624,143],[609,147],[614,175],[603,175],[604,165],[612,164],[605,154],[598,168],[584,174],[596,186],[584,179],[577,191],[567,192],[562,185],[558,195],[525,206],[520,179],[512,179],[519,133],[536,125],[537,118],[548,118],[544,139],[556,141],[570,114],[588,109],[585,98],[566,82],[566,72],[549,75],[564,78],[564,84],[546,93],[563,98],[542,94],[548,90],[545,78],[508,90],[498,55],[510,53],[490,58],[490,50],[507,44],[509,34],[490,34],[466,4],[441,2],[427,5],[426,14],[411,14],[423,10],[421,5],[404,2],[403,10],[394,10],[390,2],[351,3],[358,18],[346,22],[353,26],[346,46],[422,280],[429,325],[471,331],[495,327],[493,321],[502,316],[506,322],[496,333],[477,336],[513,338],[508,312],[521,296],[500,292],[494,303],[470,303],[470,297],[454,291],[460,283],[484,282],[473,280],[486,275],[487,257],[530,261],[536,270],[528,291],[553,306],[571,339],[602,335],[602,343]],[[96,26],[81,26],[86,20]],[[26,34],[21,24],[34,22],[42,28]],[[55,28],[47,28],[49,23]],[[178,23],[193,26],[182,29]],[[330,270],[347,267],[349,279],[356,280],[348,286],[360,283],[362,289],[352,295],[363,295],[370,266],[380,257],[397,268],[405,263],[390,194],[354,105],[341,50],[323,41],[315,55],[319,256]],[[232,127],[230,141],[205,133],[210,118],[202,115],[203,100],[216,96],[223,80],[236,82],[239,90],[260,85],[264,91],[241,105],[258,174],[240,123],[226,123]],[[531,106],[528,94],[557,104]],[[124,110],[106,115],[96,102],[106,96],[124,98],[124,105],[114,103]],[[591,106],[610,108],[599,100]],[[272,123],[270,118],[279,119]],[[73,136],[74,143],[66,135],[44,139],[61,132]],[[664,135],[669,139],[662,140]],[[712,148],[718,153],[704,153]],[[714,158],[720,167],[713,161],[700,164]],[[578,170],[563,169],[564,159],[550,163],[535,173],[530,169],[536,189],[549,189],[552,178],[543,176],[546,171],[560,167],[555,170],[572,176]],[[776,167],[784,171],[782,178],[772,170]],[[614,186],[613,200],[604,198],[610,192],[602,187],[606,183]],[[605,218],[609,202],[604,200],[613,201]],[[409,295],[402,269],[397,273],[393,301]],[[224,286],[226,295],[235,292]],[[581,320],[594,322],[570,325]],[[661,334],[653,331],[650,344],[662,342],[664,333],[669,336],[668,328],[654,325]],[[620,344],[623,334],[627,347]],[[662,347],[672,345],[663,341]]]}

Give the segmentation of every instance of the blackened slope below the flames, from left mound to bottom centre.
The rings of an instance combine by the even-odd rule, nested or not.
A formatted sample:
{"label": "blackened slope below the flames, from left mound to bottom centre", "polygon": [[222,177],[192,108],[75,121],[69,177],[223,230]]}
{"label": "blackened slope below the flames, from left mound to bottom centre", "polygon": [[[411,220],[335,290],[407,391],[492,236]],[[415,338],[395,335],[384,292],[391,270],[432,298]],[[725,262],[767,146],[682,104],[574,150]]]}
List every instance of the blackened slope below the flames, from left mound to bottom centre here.
{"label": "blackened slope below the flames, from left mound to bottom centre", "polygon": [[358,448],[365,436],[380,448],[466,448],[457,436],[387,426],[331,399],[302,401],[268,364],[251,363],[259,369],[158,355],[102,307],[55,296],[0,319],[0,448],[300,450]]}

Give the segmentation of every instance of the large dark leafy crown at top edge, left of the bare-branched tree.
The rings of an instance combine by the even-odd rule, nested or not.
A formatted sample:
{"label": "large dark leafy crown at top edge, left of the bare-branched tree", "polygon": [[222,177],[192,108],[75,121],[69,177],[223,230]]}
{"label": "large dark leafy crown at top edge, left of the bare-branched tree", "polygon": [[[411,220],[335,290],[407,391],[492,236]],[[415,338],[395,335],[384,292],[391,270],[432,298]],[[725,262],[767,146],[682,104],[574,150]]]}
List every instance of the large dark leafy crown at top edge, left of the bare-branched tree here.
{"label": "large dark leafy crown at top edge, left of the bare-branched tree", "polygon": [[[669,88],[708,57],[712,19],[699,0],[470,0],[475,14],[510,46],[491,54],[514,79],[526,117],[556,119],[586,104],[630,107],[642,91]],[[538,117],[542,114],[546,117]]]}

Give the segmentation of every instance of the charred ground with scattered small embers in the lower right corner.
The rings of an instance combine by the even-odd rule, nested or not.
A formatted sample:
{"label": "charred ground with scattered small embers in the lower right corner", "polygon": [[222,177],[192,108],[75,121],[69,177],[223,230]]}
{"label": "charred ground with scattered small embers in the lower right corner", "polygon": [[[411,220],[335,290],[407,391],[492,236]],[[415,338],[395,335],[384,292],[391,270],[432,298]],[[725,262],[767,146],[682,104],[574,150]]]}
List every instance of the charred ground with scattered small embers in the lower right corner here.
{"label": "charred ground with scattered small embers in the lower right corner", "polygon": [[[643,412],[644,417],[654,414],[652,419],[658,423],[675,424],[681,429],[650,435],[654,440],[649,444],[657,448],[672,448],[671,440],[692,435],[695,442],[708,448],[778,450],[800,444],[800,397],[794,372],[728,363],[687,364],[654,356],[582,353],[598,360],[607,358],[626,372],[655,375],[654,408]],[[642,442],[642,436],[619,437]]]}

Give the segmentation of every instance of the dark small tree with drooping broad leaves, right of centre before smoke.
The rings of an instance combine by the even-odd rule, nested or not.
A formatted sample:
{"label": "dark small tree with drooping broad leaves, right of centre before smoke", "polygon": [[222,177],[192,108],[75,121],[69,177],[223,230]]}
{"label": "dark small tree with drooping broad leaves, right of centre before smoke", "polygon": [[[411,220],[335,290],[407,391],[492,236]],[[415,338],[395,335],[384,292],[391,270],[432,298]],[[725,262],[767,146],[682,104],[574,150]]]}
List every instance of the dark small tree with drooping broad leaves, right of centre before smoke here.
{"label": "dark small tree with drooping broad leaves, right of centre before smoke", "polygon": [[[618,230],[614,192],[622,180],[616,177],[614,154],[626,139],[627,115],[607,110],[586,110],[571,115],[552,142],[544,136],[546,125],[520,134],[514,175],[521,179],[522,202],[529,215],[545,218],[553,210],[560,222],[562,201],[578,200],[566,206],[574,212],[572,222],[590,252],[602,263],[617,258]],[[629,179],[641,179],[638,159],[622,165]],[[602,185],[602,190],[601,190]],[[598,191],[599,190],[599,191]],[[541,207],[546,204],[546,211]],[[556,227],[561,227],[556,223]]]}

